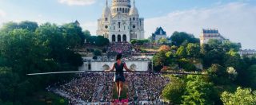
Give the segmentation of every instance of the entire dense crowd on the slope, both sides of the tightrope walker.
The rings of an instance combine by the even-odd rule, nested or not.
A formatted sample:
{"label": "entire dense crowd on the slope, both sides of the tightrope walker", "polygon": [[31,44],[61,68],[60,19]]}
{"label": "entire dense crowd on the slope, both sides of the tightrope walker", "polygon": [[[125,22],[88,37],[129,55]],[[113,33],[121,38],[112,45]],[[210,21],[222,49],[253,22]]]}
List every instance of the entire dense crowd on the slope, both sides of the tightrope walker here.
{"label": "entire dense crowd on the slope, both sides of the tightrope walker", "polygon": [[[125,73],[127,98],[134,102],[157,102],[162,88],[170,82],[158,73]],[[66,84],[53,86],[49,90],[70,100],[70,104],[110,104],[114,99],[114,73],[83,73]],[[146,104],[146,103],[145,103]]]}

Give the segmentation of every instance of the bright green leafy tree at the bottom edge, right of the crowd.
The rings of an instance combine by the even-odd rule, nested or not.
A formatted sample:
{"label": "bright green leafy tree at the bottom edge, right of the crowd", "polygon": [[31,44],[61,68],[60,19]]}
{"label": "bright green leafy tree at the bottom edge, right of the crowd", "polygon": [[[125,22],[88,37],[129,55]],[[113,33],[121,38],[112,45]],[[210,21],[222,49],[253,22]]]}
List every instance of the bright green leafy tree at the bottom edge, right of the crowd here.
{"label": "bright green leafy tree at the bottom edge, right of the crowd", "polygon": [[214,104],[218,94],[214,84],[203,76],[170,76],[162,95],[171,104]]}

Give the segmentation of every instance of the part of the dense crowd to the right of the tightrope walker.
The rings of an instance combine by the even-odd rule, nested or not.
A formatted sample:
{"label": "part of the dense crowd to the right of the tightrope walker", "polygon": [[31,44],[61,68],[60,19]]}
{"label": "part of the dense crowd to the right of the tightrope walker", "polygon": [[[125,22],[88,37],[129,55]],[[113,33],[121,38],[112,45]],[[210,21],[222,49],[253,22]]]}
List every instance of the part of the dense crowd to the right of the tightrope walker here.
{"label": "part of the dense crowd to the right of the tightrope walker", "polygon": [[170,82],[159,73],[141,72],[128,74],[128,97],[138,101],[156,101],[160,99],[162,89]]}

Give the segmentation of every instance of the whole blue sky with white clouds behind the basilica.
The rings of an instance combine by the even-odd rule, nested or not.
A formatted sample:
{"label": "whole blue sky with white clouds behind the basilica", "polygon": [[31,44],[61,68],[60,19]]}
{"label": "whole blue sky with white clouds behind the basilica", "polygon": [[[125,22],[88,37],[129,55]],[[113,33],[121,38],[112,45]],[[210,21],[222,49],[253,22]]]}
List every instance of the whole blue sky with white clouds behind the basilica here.
{"label": "whole blue sky with white clouds behind the basilica", "polygon": [[[0,0],[0,26],[8,21],[62,25],[78,20],[82,29],[95,34],[105,2]],[[230,41],[242,43],[242,49],[256,49],[256,0],[136,0],[136,6],[145,19],[145,37],[150,37],[158,26],[168,36],[178,31],[199,37],[202,29],[218,29]]]}

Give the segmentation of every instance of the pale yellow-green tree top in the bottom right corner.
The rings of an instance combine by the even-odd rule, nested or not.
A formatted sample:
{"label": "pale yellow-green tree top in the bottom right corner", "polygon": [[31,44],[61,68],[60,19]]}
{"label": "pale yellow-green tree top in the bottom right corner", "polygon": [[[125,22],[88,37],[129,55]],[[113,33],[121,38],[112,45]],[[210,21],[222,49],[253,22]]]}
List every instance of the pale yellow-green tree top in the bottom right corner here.
{"label": "pale yellow-green tree top in the bottom right corner", "polygon": [[256,91],[239,87],[235,93],[224,91],[221,99],[224,105],[254,105],[256,104]]}

